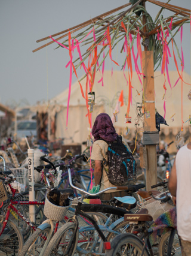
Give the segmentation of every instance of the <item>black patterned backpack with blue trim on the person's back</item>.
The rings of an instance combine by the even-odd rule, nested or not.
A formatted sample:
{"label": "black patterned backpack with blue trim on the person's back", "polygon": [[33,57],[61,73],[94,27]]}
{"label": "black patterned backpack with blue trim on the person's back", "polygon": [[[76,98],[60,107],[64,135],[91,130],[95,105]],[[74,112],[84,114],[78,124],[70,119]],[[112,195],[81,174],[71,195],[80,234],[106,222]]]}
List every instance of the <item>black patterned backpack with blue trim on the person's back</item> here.
{"label": "black patterned backpack with blue trim on the person's back", "polygon": [[[107,142],[107,141],[106,141]],[[107,173],[109,182],[115,186],[124,186],[128,182],[136,180],[137,164],[133,154],[128,150],[127,146],[122,143],[122,137],[118,135],[113,142],[107,142],[107,158],[104,159],[104,165],[109,166]]]}

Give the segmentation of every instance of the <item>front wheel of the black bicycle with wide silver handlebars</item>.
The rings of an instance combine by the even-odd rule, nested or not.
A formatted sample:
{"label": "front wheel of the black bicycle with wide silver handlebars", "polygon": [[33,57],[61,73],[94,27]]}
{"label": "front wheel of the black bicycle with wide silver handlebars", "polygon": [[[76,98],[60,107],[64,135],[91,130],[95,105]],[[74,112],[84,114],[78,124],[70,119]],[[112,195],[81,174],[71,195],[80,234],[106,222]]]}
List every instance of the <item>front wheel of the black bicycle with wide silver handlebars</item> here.
{"label": "front wheel of the black bicycle with wide silver handlebars", "polygon": [[[54,234],[43,256],[66,255],[71,236],[75,231],[75,226],[76,224],[72,222],[64,224],[57,233]],[[70,249],[70,252],[67,255],[73,256],[75,254],[76,246],[78,244],[78,235],[79,231],[77,229],[72,249]]]}

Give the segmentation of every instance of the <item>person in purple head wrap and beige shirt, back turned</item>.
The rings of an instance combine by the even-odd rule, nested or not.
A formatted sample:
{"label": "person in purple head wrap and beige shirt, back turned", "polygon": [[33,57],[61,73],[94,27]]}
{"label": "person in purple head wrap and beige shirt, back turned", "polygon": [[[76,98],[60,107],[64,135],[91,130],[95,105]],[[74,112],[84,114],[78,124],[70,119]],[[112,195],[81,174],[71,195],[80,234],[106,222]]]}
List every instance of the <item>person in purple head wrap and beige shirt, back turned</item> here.
{"label": "person in purple head wrap and beige shirt, back turned", "polygon": [[[101,113],[97,116],[93,128],[92,135],[94,136],[93,149],[91,152],[91,159],[95,161],[94,167],[94,179],[95,185],[100,185],[100,191],[114,187],[112,183],[109,182],[106,171],[108,170],[107,165],[107,149],[108,142],[116,141],[116,138],[119,136],[115,128],[113,127],[112,120],[110,116],[106,113]],[[122,142],[125,146],[128,147],[128,150],[131,149],[127,144],[127,141],[122,138]],[[124,197],[127,195],[125,191],[116,191],[115,189],[104,192],[100,195],[100,199],[103,201],[109,201],[112,197]]]}

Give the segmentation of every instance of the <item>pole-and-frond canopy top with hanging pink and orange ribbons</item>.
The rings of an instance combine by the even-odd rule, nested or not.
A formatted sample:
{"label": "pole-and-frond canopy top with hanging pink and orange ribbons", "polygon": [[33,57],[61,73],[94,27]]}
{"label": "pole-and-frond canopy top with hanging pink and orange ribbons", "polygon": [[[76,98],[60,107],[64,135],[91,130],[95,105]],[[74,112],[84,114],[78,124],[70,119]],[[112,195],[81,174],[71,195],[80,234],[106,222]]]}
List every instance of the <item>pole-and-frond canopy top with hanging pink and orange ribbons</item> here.
{"label": "pole-and-frond canopy top with hanging pink and orange ribbons", "polygon": [[[135,65],[135,71],[137,73],[138,79],[142,84],[142,78],[144,78],[143,68],[142,68],[142,55],[141,55],[141,44],[143,44],[144,48],[147,50],[152,50],[154,53],[153,60],[154,60],[154,67],[155,70],[161,64],[161,72],[164,74],[164,90],[165,96],[163,97],[164,100],[164,118],[166,113],[166,91],[167,85],[166,81],[171,86],[170,77],[168,74],[168,65],[169,65],[169,58],[171,57],[170,50],[168,45],[170,43],[169,38],[171,36],[172,41],[172,51],[174,56],[175,66],[178,71],[177,60],[175,59],[174,48],[177,49],[175,44],[174,35],[177,34],[178,30],[180,29],[181,41],[182,41],[182,34],[183,23],[190,23],[190,10],[182,7],[176,7],[174,5],[170,5],[168,3],[162,3],[159,1],[147,0],[152,4],[158,5],[161,7],[161,10],[157,14],[155,20],[152,19],[149,13],[147,13],[146,8],[144,8],[143,0],[138,1],[131,1],[126,5],[122,5],[114,10],[108,11],[107,13],[101,14],[87,22],[81,23],[73,28],[67,29],[65,31],[61,31],[57,34],[51,35],[50,37],[42,38],[39,41],[48,40],[51,38],[51,42],[44,44],[44,46],[39,47],[36,50],[42,49],[43,47],[47,47],[51,43],[56,42],[58,47],[63,47],[63,49],[69,50],[69,57],[70,61],[66,65],[68,67],[70,65],[70,80],[69,80],[69,97],[67,102],[67,116],[66,119],[68,121],[69,115],[69,101],[70,101],[70,92],[71,92],[71,82],[72,82],[72,72],[75,73],[77,79],[78,76],[76,74],[76,69],[78,67],[84,68],[85,76],[82,77],[84,79],[87,77],[87,83],[84,89],[81,86],[81,80],[78,79],[79,86],[81,87],[82,97],[84,97],[86,104],[87,104],[87,116],[89,120],[89,124],[91,127],[91,112],[93,110],[93,105],[90,108],[88,107],[88,93],[93,91],[94,86],[94,79],[96,75],[96,71],[99,71],[101,74],[101,79],[98,81],[103,86],[103,76],[104,76],[104,61],[109,56],[111,62],[115,65],[118,65],[118,62],[113,59],[112,51],[116,45],[118,45],[119,41],[123,42],[122,51],[125,52],[125,59],[122,68],[124,70],[125,76],[125,67],[128,69],[128,76],[125,77],[128,85],[128,103],[127,103],[127,115],[130,113],[130,106],[132,104],[132,59]],[[164,18],[161,15],[162,10],[167,8],[168,10],[174,13],[173,16]],[[120,11],[118,13],[118,11]],[[144,18],[144,19],[143,19]],[[146,22],[145,22],[146,20]],[[84,31],[82,29],[84,28]],[[77,31],[81,30],[81,32],[76,33]],[[157,34],[157,37],[155,36]],[[59,36],[56,39],[53,37]],[[58,40],[66,37],[66,39],[59,43]],[[141,38],[143,39],[142,43]],[[137,40],[137,55],[134,53],[134,41]],[[83,42],[83,44],[82,44]],[[90,47],[87,48],[87,51],[81,54],[80,47],[89,44]],[[79,54],[79,58],[73,60],[74,51],[77,50]],[[184,57],[183,57],[183,50],[181,47],[181,56],[177,49],[177,55],[181,62],[181,74],[178,71],[178,80],[181,79],[181,83],[184,82],[183,80],[183,68],[184,68]],[[103,57],[100,61],[100,57]],[[140,66],[138,67],[138,58],[140,58]],[[85,62],[88,62],[85,65]],[[102,70],[100,67],[102,65]],[[113,69],[113,68],[112,68]],[[167,74],[167,78],[165,77],[165,73]],[[177,82],[178,82],[177,80]],[[177,84],[175,83],[175,85]],[[174,86],[175,86],[174,85]],[[182,86],[183,87],[183,86]],[[138,94],[137,94],[138,95]],[[91,103],[90,103],[91,104]],[[143,106],[144,108],[144,106]],[[148,113],[146,113],[148,116]],[[66,121],[66,126],[67,126]],[[183,116],[181,116],[181,129],[183,129]]]}

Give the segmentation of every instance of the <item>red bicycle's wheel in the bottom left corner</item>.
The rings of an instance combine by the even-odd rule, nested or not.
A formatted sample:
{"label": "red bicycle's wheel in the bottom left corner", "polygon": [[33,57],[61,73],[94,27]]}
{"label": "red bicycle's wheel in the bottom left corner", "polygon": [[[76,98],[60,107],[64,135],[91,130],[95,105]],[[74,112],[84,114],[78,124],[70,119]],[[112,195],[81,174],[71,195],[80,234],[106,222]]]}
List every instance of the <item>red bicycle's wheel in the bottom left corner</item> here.
{"label": "red bicycle's wheel in the bottom left corner", "polygon": [[[2,230],[1,223],[1,230]],[[23,236],[14,222],[8,220],[0,237],[0,251],[6,254],[17,254],[23,248]]]}

